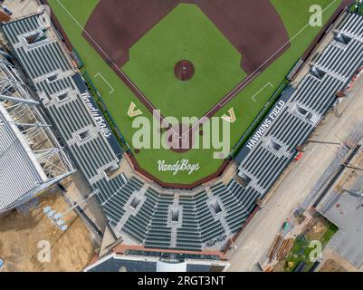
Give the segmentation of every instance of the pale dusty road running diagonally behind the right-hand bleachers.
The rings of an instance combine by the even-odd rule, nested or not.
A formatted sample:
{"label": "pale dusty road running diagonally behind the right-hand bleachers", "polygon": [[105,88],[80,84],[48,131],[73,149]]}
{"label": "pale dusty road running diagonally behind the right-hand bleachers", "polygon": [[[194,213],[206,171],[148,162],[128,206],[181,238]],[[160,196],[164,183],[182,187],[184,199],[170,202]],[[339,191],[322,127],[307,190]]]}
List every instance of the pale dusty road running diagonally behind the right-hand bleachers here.
{"label": "pale dusty road running diagonally behind the right-hand bleachers", "polygon": [[[342,142],[357,131],[358,124],[363,123],[363,77],[360,77],[349,93],[349,98],[338,106],[340,116],[330,112],[318,130],[311,136],[312,140]],[[282,223],[291,216],[320,179],[322,172],[335,160],[340,147],[331,144],[310,143],[299,162],[292,162],[283,174],[279,184],[272,189],[272,195],[245,227],[237,239],[237,249],[231,250],[228,271],[256,271],[263,255],[268,252],[273,238]]]}

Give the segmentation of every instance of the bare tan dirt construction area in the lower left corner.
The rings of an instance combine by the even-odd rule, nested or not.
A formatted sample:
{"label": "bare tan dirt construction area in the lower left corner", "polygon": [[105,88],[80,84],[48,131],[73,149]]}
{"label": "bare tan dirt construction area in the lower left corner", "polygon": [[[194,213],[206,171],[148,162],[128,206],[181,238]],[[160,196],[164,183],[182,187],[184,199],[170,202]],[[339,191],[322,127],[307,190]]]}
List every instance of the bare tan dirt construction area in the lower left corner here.
{"label": "bare tan dirt construction area in the lower left corner", "polygon": [[29,211],[14,210],[0,217],[0,258],[5,261],[5,272],[81,271],[96,255],[81,218],[74,212],[66,215],[63,219],[69,228],[62,232],[44,216],[46,206],[57,212],[70,207],[55,192],[43,195]]}

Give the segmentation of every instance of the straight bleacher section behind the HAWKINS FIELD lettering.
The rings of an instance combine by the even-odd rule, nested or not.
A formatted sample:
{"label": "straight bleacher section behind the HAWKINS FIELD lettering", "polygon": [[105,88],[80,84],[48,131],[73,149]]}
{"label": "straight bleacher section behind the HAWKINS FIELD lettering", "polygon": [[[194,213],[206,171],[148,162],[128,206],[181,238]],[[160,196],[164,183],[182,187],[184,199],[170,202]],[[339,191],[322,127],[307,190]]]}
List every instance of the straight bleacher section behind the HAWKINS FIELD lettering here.
{"label": "straight bleacher section behind the HAWKINS FIELD lettering", "polygon": [[362,56],[363,17],[347,14],[334,40],[239,166],[239,176],[249,182],[242,195],[265,196],[297,153],[296,147],[307,140],[336,101],[336,93],[347,86],[362,65]]}

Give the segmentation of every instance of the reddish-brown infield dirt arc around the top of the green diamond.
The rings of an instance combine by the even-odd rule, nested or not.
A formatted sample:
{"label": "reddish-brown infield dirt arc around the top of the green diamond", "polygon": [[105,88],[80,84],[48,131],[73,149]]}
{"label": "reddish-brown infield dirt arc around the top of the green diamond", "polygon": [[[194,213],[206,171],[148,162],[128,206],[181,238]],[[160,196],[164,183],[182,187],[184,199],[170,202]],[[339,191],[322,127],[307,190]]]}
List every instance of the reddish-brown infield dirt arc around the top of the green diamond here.
{"label": "reddish-brown infield dirt arc around the top of the green diamond", "polygon": [[103,58],[107,54],[122,67],[129,60],[130,47],[181,3],[199,6],[243,55],[241,66],[246,73],[263,63],[268,66],[290,47],[279,14],[265,0],[101,0],[83,35]]}

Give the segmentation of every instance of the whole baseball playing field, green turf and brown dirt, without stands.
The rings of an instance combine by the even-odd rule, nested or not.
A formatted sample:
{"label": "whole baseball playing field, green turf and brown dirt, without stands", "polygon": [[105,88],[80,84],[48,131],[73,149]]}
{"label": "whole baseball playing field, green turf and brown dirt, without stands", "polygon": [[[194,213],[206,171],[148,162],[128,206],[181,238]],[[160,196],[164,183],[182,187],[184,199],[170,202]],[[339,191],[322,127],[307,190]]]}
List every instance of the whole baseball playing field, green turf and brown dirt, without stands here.
{"label": "whole baseball playing field, green turf and brown dirt, without stands", "polygon": [[[215,159],[215,148],[191,149],[205,138],[200,126],[211,117],[223,124],[228,118],[222,117],[234,109],[232,150],[324,32],[309,24],[310,6],[321,6],[323,24],[328,25],[348,2],[48,1],[66,43],[80,54],[82,70],[91,75],[105,110],[128,143],[134,168],[163,187],[187,189],[220,175],[234,157],[219,154]],[[128,114],[131,103],[150,121],[154,110],[161,122],[167,116],[179,120],[170,124],[182,132],[179,138],[167,138],[170,149],[133,146],[137,129],[132,126],[135,117]],[[182,117],[199,121],[188,126]],[[189,160],[199,166],[193,174],[174,175],[158,169],[160,160]]]}

